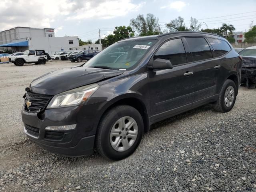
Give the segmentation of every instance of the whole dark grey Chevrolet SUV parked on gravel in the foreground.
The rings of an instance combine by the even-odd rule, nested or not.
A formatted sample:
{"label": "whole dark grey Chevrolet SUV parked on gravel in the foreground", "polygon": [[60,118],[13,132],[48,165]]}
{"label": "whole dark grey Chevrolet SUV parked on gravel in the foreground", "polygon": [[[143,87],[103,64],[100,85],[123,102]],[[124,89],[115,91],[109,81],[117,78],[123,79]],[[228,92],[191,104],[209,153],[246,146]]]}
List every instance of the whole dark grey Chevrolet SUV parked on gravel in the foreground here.
{"label": "whole dark grey Chevrolet SUV parked on gravel in the foreground", "polygon": [[82,156],[96,148],[120,160],[155,122],[208,103],[230,111],[241,65],[229,42],[214,34],[120,40],[84,65],[32,81],[24,95],[24,131],[55,153]]}

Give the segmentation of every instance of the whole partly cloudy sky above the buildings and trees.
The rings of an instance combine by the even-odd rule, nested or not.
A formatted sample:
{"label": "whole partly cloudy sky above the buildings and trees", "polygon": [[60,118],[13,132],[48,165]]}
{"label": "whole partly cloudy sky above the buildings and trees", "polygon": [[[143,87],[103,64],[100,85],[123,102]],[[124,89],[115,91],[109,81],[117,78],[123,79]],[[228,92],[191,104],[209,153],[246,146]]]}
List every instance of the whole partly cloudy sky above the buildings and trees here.
{"label": "whole partly cloudy sky above the buildings and trees", "polygon": [[[0,31],[17,26],[55,28],[55,36],[76,36],[93,42],[111,34],[115,26],[128,26],[138,14],[166,22],[181,16],[189,27],[190,17],[201,28],[233,24],[236,31],[248,31],[256,24],[256,0],[1,0]],[[205,24],[205,23],[206,24]]]}

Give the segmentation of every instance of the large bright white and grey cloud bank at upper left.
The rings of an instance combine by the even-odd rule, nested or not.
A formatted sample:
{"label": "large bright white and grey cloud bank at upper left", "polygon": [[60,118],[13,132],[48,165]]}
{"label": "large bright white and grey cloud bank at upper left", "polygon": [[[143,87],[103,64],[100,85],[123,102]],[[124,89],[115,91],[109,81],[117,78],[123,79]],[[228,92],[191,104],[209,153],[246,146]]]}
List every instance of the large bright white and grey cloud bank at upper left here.
{"label": "large bright white and grey cloud bank at upper left", "polygon": [[132,0],[2,0],[0,31],[16,26],[50,28],[52,22],[66,19],[120,17],[144,4]]}

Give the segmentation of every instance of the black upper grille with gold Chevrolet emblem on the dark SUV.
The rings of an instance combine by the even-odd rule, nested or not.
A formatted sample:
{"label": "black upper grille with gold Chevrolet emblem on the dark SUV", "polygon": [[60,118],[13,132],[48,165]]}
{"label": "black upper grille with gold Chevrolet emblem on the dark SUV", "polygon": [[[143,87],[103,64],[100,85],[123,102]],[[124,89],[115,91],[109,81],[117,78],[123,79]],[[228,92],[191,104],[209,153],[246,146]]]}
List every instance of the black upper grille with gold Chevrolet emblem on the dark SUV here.
{"label": "black upper grille with gold Chevrolet emblem on the dark SUV", "polygon": [[[26,92],[26,104],[25,110],[31,113],[36,113],[40,109],[44,109],[50,99],[52,98],[51,95],[43,95],[37,94],[32,92]],[[30,102],[30,106],[27,105],[27,101]]]}

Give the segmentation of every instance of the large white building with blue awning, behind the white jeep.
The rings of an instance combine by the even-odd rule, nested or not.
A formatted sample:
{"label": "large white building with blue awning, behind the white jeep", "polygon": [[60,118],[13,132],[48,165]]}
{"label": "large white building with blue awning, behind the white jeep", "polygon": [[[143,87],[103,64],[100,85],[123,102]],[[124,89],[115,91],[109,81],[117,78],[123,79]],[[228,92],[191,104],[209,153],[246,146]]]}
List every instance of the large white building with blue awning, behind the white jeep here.
{"label": "large white building with blue awning, behind the white jeep", "polygon": [[78,50],[78,36],[55,37],[54,28],[15,27],[0,32],[0,49],[13,52],[42,49],[50,55],[55,52]]}

